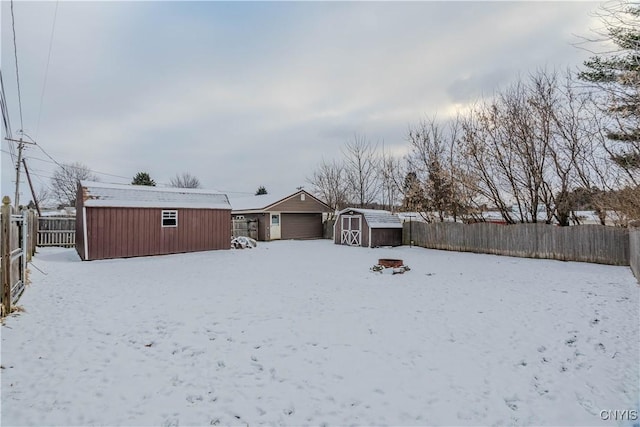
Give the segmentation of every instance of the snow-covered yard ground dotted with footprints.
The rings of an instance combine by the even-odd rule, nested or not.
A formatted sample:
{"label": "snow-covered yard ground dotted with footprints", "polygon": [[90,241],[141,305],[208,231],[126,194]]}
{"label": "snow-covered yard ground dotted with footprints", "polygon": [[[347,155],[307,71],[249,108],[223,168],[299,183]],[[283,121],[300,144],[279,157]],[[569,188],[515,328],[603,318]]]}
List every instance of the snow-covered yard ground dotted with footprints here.
{"label": "snow-covered yard ground dotted with footprints", "polygon": [[[411,271],[369,271],[378,258]],[[2,326],[3,426],[617,425],[601,411],[638,410],[625,267],[326,240],[92,262],[51,248],[34,264],[46,275],[31,268],[26,311]]]}

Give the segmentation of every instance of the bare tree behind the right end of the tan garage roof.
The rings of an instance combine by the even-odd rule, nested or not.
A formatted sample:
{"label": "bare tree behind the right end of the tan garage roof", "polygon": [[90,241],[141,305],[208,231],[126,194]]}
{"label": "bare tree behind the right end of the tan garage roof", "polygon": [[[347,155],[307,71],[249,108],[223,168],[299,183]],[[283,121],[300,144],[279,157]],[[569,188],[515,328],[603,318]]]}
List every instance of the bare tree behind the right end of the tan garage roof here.
{"label": "bare tree behind the right end of the tan garage roof", "polygon": [[342,163],[323,159],[307,182],[311,184],[312,192],[332,209],[339,210],[346,206],[347,182]]}

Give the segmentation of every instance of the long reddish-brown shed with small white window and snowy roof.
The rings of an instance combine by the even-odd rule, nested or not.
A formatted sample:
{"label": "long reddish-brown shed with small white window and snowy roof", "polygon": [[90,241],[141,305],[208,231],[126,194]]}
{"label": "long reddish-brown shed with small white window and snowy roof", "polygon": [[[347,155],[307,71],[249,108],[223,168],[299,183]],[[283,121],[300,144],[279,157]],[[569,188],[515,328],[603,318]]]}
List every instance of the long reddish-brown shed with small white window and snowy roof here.
{"label": "long reddish-brown shed with small white window and snowy roof", "polygon": [[231,205],[215,191],[82,181],[76,250],[83,260],[229,249]]}

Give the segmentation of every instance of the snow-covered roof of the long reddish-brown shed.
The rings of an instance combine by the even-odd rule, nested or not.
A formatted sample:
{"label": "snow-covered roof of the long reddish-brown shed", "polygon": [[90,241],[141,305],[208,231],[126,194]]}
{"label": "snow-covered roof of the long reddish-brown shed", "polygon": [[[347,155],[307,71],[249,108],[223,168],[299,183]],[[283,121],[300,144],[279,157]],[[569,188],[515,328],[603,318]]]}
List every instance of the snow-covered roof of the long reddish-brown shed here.
{"label": "snow-covered roof of the long reddish-brown shed", "polygon": [[225,194],[215,190],[159,188],[147,185],[81,181],[88,207],[231,209]]}

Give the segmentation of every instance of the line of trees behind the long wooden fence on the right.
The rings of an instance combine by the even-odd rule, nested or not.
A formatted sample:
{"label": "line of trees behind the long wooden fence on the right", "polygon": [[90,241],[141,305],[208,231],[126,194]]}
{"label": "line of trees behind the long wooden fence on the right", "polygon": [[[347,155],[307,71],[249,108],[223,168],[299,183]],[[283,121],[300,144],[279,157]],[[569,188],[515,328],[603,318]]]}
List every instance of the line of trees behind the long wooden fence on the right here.
{"label": "line of trees behind the long wooden fence on the right", "polygon": [[579,73],[539,69],[455,117],[420,120],[408,154],[356,135],[307,181],[335,209],[417,211],[428,221],[569,225],[575,212],[640,218],[640,5],[600,12],[605,41]]}

